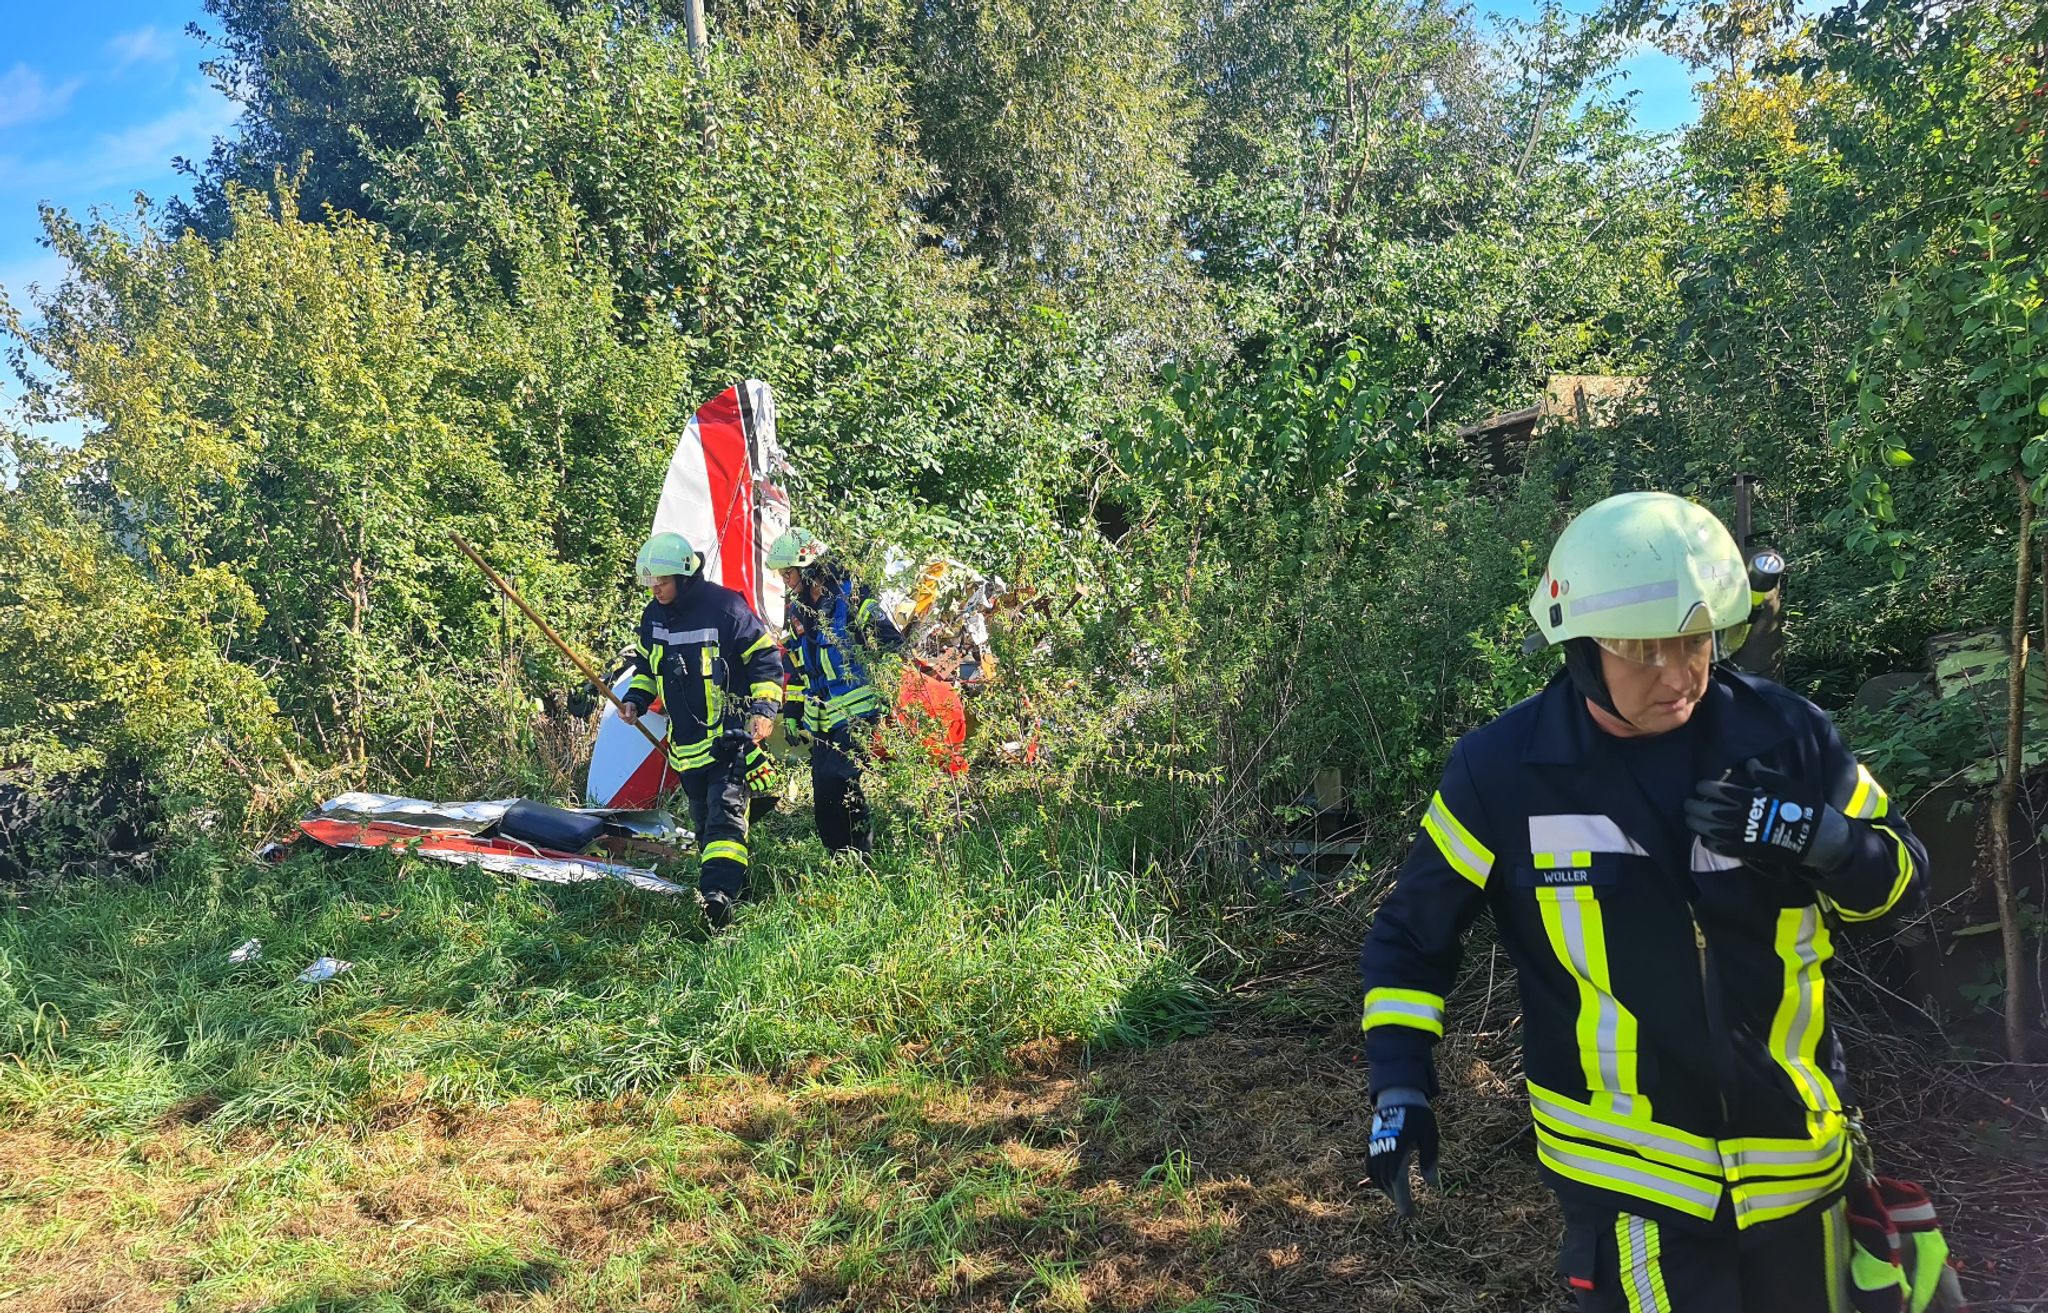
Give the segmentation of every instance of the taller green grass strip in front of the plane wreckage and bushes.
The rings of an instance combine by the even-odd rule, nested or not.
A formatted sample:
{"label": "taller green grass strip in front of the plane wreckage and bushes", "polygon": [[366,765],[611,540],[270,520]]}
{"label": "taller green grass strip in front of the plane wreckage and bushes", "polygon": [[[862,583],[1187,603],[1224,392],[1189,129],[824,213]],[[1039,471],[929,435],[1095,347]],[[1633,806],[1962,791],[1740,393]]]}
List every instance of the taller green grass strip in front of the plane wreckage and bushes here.
{"label": "taller green grass strip in front of the plane wreckage and bushes", "polygon": [[[715,938],[686,899],[383,854],[188,854],[147,885],[18,893],[0,909],[0,1114],[360,1123],[700,1071],[975,1075],[1032,1041],[1200,1026],[1186,918],[1169,928],[1169,891],[1100,854],[1006,850],[995,830],[944,860],[762,848],[780,889]],[[246,938],[262,959],[231,965]],[[319,955],[354,969],[293,983]]]}

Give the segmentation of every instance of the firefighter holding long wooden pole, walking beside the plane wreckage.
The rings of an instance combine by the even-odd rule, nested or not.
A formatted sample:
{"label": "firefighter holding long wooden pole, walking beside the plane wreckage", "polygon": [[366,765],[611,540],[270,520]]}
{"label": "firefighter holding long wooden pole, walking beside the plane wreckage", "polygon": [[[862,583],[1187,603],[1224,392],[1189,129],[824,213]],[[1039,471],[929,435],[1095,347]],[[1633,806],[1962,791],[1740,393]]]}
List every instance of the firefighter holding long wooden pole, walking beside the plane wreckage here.
{"label": "firefighter holding long wooden pole, walking beside the plane wreckage", "polygon": [[690,799],[702,864],[698,893],[713,928],[733,920],[748,887],[748,758],[782,707],[782,653],[748,600],[702,578],[702,557],[676,533],[639,551],[653,594],[633,641],[625,719],[662,698],[668,764]]}

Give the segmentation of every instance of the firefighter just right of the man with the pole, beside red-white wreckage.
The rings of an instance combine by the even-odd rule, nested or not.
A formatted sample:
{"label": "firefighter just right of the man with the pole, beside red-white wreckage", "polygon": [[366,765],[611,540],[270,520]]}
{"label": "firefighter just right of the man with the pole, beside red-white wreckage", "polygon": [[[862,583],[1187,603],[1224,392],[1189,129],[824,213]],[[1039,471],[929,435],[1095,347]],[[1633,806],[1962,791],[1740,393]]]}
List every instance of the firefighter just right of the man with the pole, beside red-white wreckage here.
{"label": "firefighter just right of the man with the pole, beside red-white wreckage", "polygon": [[768,565],[788,584],[788,653],[801,680],[791,682],[791,705],[801,705],[803,729],[811,735],[817,838],[827,852],[866,852],[868,799],[860,766],[883,701],[862,649],[901,647],[903,635],[874,594],[829,557],[823,539],[791,528],[768,549]]}

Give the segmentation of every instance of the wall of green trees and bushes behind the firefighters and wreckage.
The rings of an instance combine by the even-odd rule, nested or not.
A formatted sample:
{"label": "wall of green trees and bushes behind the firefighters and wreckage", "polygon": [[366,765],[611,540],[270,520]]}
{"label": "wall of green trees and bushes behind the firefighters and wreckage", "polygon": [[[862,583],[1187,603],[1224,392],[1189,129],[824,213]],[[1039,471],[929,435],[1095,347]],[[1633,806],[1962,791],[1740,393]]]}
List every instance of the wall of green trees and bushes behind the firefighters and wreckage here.
{"label": "wall of green trees and bushes behind the firefighters and wreckage", "polygon": [[[575,680],[449,533],[614,649],[674,430],[739,377],[850,557],[1047,594],[977,711],[1174,869],[1329,766],[1399,844],[1618,488],[1759,469],[1841,698],[1995,615],[1980,475],[2048,473],[2028,14],[1700,6],[1673,156],[1614,98],[1642,10],[735,2],[696,59],[664,6],[217,0],[236,139],[168,221],[49,215],[72,279],[10,317],[31,418],[88,436],[14,444],[0,604],[53,660],[0,674],[0,764],[258,819],[563,791]],[[1556,373],[1651,404],[1485,469],[1458,426]],[[940,854],[971,823],[881,782]]]}

